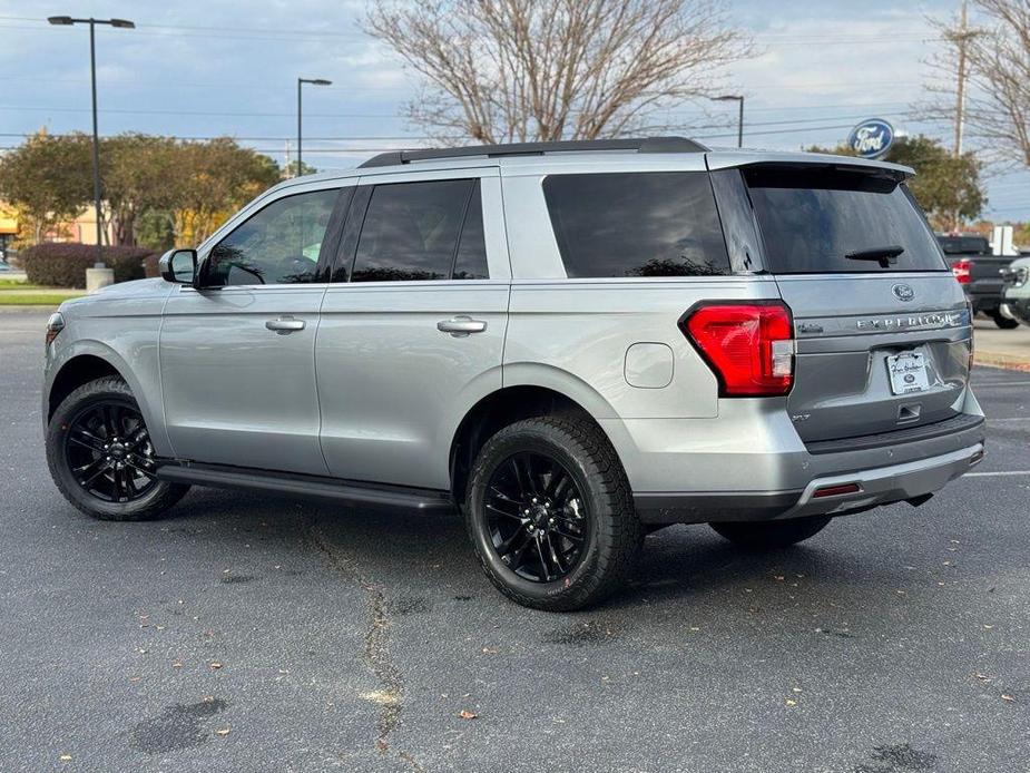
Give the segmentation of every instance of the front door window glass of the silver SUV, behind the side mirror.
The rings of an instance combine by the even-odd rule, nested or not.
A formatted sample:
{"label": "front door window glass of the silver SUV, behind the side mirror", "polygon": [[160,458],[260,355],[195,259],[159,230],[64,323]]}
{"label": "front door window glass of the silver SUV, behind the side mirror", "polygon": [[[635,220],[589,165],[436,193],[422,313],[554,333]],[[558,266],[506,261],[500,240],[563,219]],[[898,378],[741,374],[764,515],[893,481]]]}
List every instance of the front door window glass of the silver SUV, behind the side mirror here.
{"label": "front door window glass of the silver SUV, behind the side mirror", "polygon": [[339,190],[272,202],[222,239],[207,262],[205,284],[315,282],[315,268]]}

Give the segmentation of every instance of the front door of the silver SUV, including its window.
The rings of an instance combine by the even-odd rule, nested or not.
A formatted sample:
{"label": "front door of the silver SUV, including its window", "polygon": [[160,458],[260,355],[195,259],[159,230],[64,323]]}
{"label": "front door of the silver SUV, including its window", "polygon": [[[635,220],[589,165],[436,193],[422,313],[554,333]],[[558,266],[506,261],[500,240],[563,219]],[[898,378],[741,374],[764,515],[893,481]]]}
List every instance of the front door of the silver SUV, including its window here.
{"label": "front door of the silver SUV, including its window", "polygon": [[326,473],[314,360],[326,287],[318,261],[334,252],[332,216],[351,190],[259,203],[202,255],[202,290],[169,297],[160,370],[177,458]]}

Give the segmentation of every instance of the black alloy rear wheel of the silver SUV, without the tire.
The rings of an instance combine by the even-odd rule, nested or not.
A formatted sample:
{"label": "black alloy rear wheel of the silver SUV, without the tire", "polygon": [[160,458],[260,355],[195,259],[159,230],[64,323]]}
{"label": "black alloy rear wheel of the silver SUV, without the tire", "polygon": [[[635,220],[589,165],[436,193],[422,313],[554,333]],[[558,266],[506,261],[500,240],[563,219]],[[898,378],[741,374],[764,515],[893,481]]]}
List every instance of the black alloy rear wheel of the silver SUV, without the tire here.
{"label": "black alloy rear wheel of the silver SUV, without the tire", "polygon": [[572,476],[549,456],[510,456],[493,471],[483,507],[493,549],[523,579],[562,579],[587,550],[589,510]]}

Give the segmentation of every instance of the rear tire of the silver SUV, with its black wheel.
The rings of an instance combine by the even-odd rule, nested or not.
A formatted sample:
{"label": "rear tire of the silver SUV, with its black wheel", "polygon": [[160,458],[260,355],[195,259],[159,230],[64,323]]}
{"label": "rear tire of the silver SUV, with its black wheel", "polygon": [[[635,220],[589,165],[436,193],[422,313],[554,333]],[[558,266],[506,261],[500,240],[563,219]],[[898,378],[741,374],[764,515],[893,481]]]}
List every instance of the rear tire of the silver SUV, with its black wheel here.
{"label": "rear tire of the silver SUV, with its black wheel", "polygon": [[[519,464],[523,464],[521,476]],[[530,481],[527,489],[540,495],[542,506],[520,508],[511,503],[513,496],[499,498],[502,487],[509,490],[519,478]],[[504,513],[499,515],[496,506],[503,507]],[[539,515],[539,531],[545,532],[540,541],[522,531],[530,529],[531,518],[538,518],[536,510],[524,517],[530,507],[553,508]],[[509,508],[517,515],[509,515]],[[615,449],[598,427],[575,417],[526,419],[490,438],[473,464],[463,510],[487,577],[508,598],[533,609],[569,611],[597,604],[626,581],[642,540],[629,482]],[[553,517],[548,521],[547,516]],[[508,535],[501,529],[509,528],[511,540],[529,539],[524,548],[529,556],[538,545],[543,546],[536,569],[520,568],[517,545],[501,540]],[[579,541],[573,541],[575,535]],[[513,547],[502,559],[499,550],[504,544]],[[568,552],[562,552],[563,546],[571,546]],[[565,574],[559,576],[562,564]]]}

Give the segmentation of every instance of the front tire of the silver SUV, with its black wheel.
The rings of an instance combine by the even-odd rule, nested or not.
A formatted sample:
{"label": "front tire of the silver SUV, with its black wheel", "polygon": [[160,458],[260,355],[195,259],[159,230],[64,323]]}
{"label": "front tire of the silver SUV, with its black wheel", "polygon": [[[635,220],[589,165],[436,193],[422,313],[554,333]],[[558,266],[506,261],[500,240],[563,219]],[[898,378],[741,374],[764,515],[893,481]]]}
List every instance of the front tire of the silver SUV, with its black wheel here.
{"label": "front tire of the silver SUV, with its black wheel", "polygon": [[[111,413],[108,413],[110,411]],[[94,414],[114,415],[110,421],[94,423],[94,429],[85,433],[75,431],[85,427],[84,417]],[[90,419],[96,422],[97,418]],[[121,464],[118,472],[105,461],[104,449],[107,440],[122,428],[126,438],[112,453],[116,464]],[[112,429],[115,428],[115,429]],[[82,438],[88,442],[72,440]],[[121,456],[124,453],[124,456]],[[84,467],[76,468],[73,454],[79,454]],[[112,457],[106,457],[107,460]],[[124,462],[117,460],[124,459]],[[92,518],[100,520],[135,521],[149,520],[165,513],[189,490],[188,486],[157,480],[149,474],[153,469],[153,446],[139,405],[128,385],[117,376],[105,376],[90,381],[76,389],[58,405],[47,425],[47,463],[57,488],[71,505]],[[137,466],[138,464],[138,466]],[[77,472],[76,470],[80,470]],[[124,470],[124,472],[121,471]],[[90,478],[91,487],[106,487],[110,498],[91,491],[86,486]],[[138,489],[137,489],[138,485]],[[119,496],[126,495],[126,496]]]}

